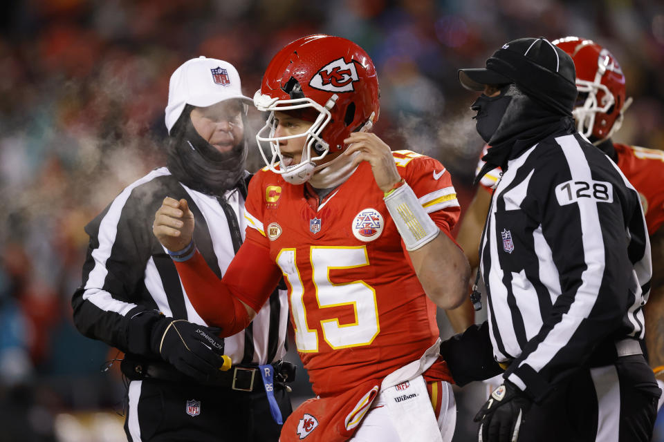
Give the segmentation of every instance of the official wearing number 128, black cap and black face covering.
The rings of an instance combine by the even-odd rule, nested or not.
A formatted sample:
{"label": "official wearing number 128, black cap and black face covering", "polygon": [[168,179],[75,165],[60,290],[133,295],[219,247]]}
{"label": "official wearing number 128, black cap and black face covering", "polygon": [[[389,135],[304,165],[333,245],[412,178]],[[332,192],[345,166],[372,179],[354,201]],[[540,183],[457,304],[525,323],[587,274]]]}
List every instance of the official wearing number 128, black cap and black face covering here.
{"label": "official wearing number 128, black cap and black face covering", "polygon": [[575,131],[571,57],[517,39],[459,81],[483,91],[471,108],[485,169],[503,170],[480,269],[506,370],[475,417],[479,440],[649,441],[661,391],[642,351],[645,220],[616,164]]}

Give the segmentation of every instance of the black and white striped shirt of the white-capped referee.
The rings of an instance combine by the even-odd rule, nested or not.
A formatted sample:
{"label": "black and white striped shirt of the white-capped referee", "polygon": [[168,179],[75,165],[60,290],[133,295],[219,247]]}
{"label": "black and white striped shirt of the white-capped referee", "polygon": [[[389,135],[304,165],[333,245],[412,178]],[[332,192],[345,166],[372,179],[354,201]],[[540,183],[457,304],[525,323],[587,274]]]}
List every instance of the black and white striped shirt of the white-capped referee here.
{"label": "black and white striped shirt of the white-capped referee", "polygon": [[[205,195],[178,182],[165,167],[127,186],[86,226],[90,246],[83,284],[72,299],[80,332],[123,352],[140,353],[136,349],[144,347],[132,347],[131,340],[141,337],[129,336],[139,333],[131,324],[142,311],[158,310],[206,325],[187,298],[167,251],[152,233],[154,213],[167,195],[189,202],[196,246],[220,278],[244,239],[244,195],[237,189],[223,198]],[[227,222],[227,213],[234,221]],[[278,361],[286,354],[287,320],[286,291],[275,291],[246,329],[225,338],[225,354],[233,363]]]}

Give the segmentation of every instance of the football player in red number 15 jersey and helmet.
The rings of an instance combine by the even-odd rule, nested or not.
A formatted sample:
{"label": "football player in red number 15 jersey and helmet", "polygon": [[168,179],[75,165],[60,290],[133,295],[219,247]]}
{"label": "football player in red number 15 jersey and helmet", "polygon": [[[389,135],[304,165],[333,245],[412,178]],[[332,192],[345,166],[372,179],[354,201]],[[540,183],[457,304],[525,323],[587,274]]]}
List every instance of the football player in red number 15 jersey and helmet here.
{"label": "football player in red number 15 jersey and helmet", "polygon": [[392,152],[369,132],[378,97],[374,65],[351,41],[313,35],[275,55],[254,97],[269,113],[257,140],[270,154],[250,183],[246,242],[223,280],[196,252],[186,201],[166,198],[156,213],[154,233],[192,304],[223,334],[246,327],[264,290],[286,281],[317,397],[288,418],[282,441],[454,433],[435,315],[436,305],[461,304],[468,283],[450,236],[459,203],[440,162]]}

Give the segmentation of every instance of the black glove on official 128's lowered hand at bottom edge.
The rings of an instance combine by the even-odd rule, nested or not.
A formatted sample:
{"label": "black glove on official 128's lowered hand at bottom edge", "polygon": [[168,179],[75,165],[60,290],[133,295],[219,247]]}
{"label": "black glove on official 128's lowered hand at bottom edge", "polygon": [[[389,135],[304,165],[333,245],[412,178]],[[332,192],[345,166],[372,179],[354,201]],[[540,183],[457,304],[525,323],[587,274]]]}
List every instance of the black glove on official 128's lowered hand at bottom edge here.
{"label": "black glove on official 128's lowered hand at bottom edge", "polygon": [[479,442],[517,442],[519,428],[532,401],[524,392],[511,383],[504,381],[484,406],[475,414],[473,421],[481,422],[477,440]]}

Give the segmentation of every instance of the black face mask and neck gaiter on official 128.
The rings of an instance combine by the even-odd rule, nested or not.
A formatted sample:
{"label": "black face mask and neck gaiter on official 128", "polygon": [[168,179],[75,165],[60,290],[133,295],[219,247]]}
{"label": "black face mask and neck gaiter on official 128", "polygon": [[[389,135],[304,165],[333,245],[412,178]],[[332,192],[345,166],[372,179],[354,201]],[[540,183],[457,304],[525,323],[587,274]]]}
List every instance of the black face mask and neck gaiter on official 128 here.
{"label": "black face mask and neck gaiter on official 128", "polygon": [[[488,101],[478,99],[473,103],[477,111],[478,132],[490,148],[482,157],[486,162],[475,181],[488,171],[501,167],[507,169],[507,162],[526,148],[556,132],[574,133],[574,120],[550,106],[544,106],[529,97],[516,84],[501,90],[501,94]],[[498,121],[498,122],[497,122]],[[495,128],[492,133],[490,130]],[[486,138],[488,137],[488,140]]]}

